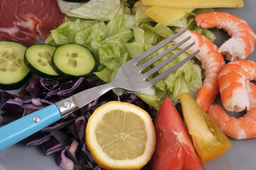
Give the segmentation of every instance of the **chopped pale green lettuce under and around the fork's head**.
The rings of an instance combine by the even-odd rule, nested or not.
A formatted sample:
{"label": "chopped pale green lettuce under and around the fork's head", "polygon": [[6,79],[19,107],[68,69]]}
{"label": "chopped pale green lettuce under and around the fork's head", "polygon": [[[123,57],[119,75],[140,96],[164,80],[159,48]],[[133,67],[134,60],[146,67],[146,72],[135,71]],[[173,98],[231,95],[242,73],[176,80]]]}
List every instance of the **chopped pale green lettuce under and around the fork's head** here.
{"label": "chopped pale green lettuce under and around the fork's head", "polygon": [[[97,3],[100,3],[100,1]],[[169,28],[161,23],[154,23],[152,19],[145,16],[143,12],[145,6],[140,1],[137,1],[133,8],[129,8],[122,1],[113,1],[111,7],[108,7],[111,12],[108,11],[108,15],[103,13],[102,16],[104,17],[101,18],[101,21],[88,21],[83,19],[99,19],[99,16],[101,16],[97,15],[94,17],[95,13],[86,10],[89,5],[90,4],[85,4],[82,7],[75,7],[73,4],[72,11],[67,11],[67,15],[80,18],[66,18],[65,23],[62,23],[59,28],[51,30],[51,35],[45,42],[52,45],[76,42],[88,47],[98,61],[99,67],[95,74],[106,83],[114,79],[118,68],[121,67],[123,63],[127,62],[130,58],[137,57],[145,52],[145,50],[149,50],[150,47],[153,47],[166,38],[167,35],[175,33],[174,27]],[[68,10],[67,6],[70,6],[70,3],[60,3],[60,8],[64,12]],[[99,6],[104,5],[97,4],[96,6],[96,8],[99,8]],[[117,8],[115,8],[115,6],[120,6],[120,8],[118,7],[118,10],[114,10]],[[136,6],[138,7],[136,8]],[[79,11],[86,12],[81,14]],[[97,10],[95,9],[95,11]],[[182,28],[196,30],[209,39],[214,40],[215,36],[211,31],[199,28],[194,21],[194,15],[206,11],[213,11],[213,8],[198,9],[193,11],[193,13],[187,13],[187,16],[173,23],[173,26],[182,26]],[[81,15],[83,15],[83,18],[81,18]],[[106,18],[106,16],[108,16],[108,18]],[[111,19],[109,20],[109,18]],[[107,19],[109,21],[106,23],[104,20]],[[167,45],[163,47],[161,50],[155,52],[152,57],[155,57],[171,46],[172,45]],[[179,50],[174,50],[172,54],[167,55],[167,57],[178,51]],[[160,70],[159,73],[164,72],[185,57],[187,57],[186,54],[181,55],[177,60],[174,60],[174,62]],[[148,60],[150,60],[150,57]],[[162,60],[165,60],[165,58]],[[184,64],[181,69],[178,69],[177,72],[167,77],[167,79],[160,81],[148,90],[136,93],[136,95],[143,98],[146,103],[156,109],[160,108],[162,101],[167,96],[174,102],[177,102],[179,94],[184,92],[190,92],[192,96],[196,97],[202,84],[201,72],[202,70],[199,63],[195,60],[191,60],[187,62],[187,64]],[[114,91],[118,95],[129,93],[121,89]]]}

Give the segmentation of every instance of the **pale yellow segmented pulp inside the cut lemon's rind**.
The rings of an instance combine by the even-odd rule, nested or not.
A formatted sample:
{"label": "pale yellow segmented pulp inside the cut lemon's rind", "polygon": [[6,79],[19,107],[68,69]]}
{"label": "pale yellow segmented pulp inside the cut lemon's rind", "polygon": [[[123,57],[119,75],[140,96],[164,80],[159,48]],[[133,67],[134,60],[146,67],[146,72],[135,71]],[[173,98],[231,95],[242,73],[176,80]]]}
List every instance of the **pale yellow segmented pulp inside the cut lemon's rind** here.
{"label": "pale yellow segmented pulp inside the cut lemon's rind", "polygon": [[96,126],[96,140],[108,157],[124,160],[142,155],[148,137],[140,116],[113,110],[106,113]]}

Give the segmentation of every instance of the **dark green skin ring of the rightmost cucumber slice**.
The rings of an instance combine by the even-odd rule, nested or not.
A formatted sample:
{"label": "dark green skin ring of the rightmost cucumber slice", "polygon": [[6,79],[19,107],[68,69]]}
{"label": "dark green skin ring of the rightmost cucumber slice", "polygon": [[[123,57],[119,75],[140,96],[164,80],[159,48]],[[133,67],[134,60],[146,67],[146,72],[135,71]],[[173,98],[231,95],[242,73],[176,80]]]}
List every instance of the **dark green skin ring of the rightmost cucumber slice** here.
{"label": "dark green skin ring of the rightmost cucumber slice", "polygon": [[[67,43],[67,44],[73,44],[73,43]],[[67,44],[63,44],[63,45],[67,45]],[[77,44],[77,45],[80,45],[80,44]],[[62,45],[60,45],[60,46],[62,46]],[[59,47],[60,47],[60,46],[59,46]],[[81,46],[84,47],[84,45],[81,45]],[[87,47],[86,47],[86,48],[87,48]],[[56,49],[56,50],[57,50],[57,49]],[[55,50],[55,52],[56,52],[56,50]],[[89,50],[89,49],[87,48],[87,50]],[[62,72],[62,71],[56,66],[56,64],[55,64],[55,62],[54,62],[55,52],[53,52],[53,54],[52,54],[52,60],[51,60],[52,68],[55,70],[55,72],[57,72],[57,74],[60,74],[60,76],[66,77],[67,79],[79,79],[80,77],[89,78],[89,77],[91,77],[91,75],[92,75],[94,72],[96,72],[97,69],[98,69],[98,65],[97,65],[96,59],[95,59],[95,57],[94,57],[94,54],[91,52],[91,50],[89,50],[89,52],[91,52],[91,55],[92,55],[92,57],[94,57],[94,60],[95,60],[94,68],[91,69],[91,72],[89,72],[88,74],[79,75],[79,76],[74,76],[74,75],[71,75],[71,74],[66,74],[66,73]]]}

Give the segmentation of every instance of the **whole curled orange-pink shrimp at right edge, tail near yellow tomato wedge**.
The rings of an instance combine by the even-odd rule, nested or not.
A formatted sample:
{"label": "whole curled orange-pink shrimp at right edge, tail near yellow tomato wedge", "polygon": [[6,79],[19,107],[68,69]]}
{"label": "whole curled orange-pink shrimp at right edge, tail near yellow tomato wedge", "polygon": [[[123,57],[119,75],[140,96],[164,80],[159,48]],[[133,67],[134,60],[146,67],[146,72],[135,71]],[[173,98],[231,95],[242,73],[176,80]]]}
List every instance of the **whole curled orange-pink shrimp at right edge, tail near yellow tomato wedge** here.
{"label": "whole curled orange-pink shrimp at right edge, tail near yellow tomato wedge", "polygon": [[230,117],[217,104],[206,111],[226,135],[238,140],[256,137],[256,86],[250,83],[253,79],[256,62],[238,60],[226,64],[219,74],[223,106],[228,111],[247,113],[240,118]]}

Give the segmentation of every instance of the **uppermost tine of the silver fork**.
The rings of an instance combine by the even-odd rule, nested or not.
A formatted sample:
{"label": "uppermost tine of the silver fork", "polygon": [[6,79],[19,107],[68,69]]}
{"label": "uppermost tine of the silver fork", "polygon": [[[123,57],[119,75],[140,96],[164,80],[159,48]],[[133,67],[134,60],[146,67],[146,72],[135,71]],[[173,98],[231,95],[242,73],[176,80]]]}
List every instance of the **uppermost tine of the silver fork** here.
{"label": "uppermost tine of the silver fork", "polygon": [[162,42],[158,43],[154,47],[150,48],[150,50],[143,52],[141,55],[138,55],[138,57],[135,57],[134,59],[132,59],[130,61],[133,61],[133,62],[135,62],[135,64],[138,64],[138,62],[140,62],[140,61],[144,60],[146,57],[152,55],[152,53],[154,53],[157,50],[159,50],[160,48],[164,47],[165,45],[167,45],[169,42],[171,42],[172,40],[177,38],[179,35],[181,35],[185,31],[186,31],[186,29],[180,31],[179,33],[172,35],[171,37],[167,38],[166,40],[163,40]]}

